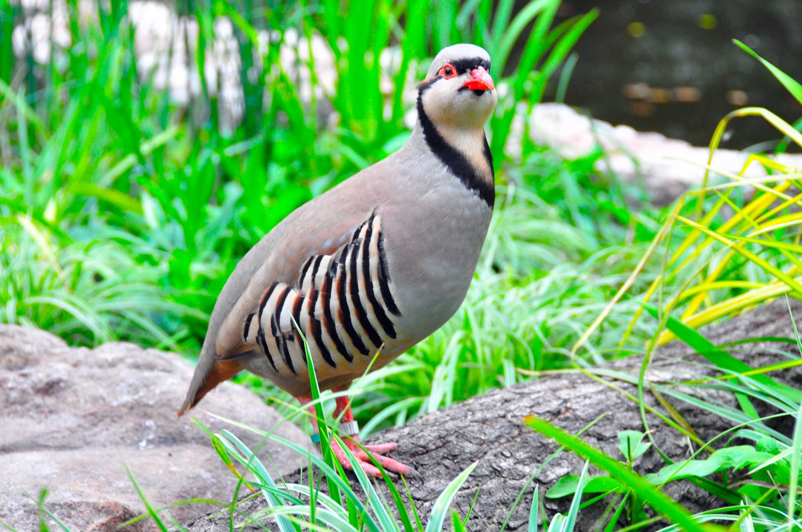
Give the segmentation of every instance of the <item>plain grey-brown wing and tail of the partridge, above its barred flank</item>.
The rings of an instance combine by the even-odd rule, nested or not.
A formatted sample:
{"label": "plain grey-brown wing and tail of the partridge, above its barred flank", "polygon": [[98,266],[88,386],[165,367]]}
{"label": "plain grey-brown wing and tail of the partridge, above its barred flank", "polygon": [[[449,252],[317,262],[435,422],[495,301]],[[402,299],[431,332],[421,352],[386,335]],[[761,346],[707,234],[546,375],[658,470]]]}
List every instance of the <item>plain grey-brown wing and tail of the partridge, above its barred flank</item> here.
{"label": "plain grey-brown wing and tail of the partridge, above its barred flank", "polygon": [[[346,183],[358,185],[358,180],[352,177]],[[371,216],[375,202],[371,202],[370,195],[354,197],[353,191],[342,186],[346,183],[296,209],[237,264],[217,297],[179,415],[196,405],[209,390],[243,369],[238,356],[254,351],[256,345],[244,340],[242,332],[246,319],[265,292],[279,283],[297,285],[310,256],[338,252],[359,224]],[[332,205],[340,208],[332,208]]]}

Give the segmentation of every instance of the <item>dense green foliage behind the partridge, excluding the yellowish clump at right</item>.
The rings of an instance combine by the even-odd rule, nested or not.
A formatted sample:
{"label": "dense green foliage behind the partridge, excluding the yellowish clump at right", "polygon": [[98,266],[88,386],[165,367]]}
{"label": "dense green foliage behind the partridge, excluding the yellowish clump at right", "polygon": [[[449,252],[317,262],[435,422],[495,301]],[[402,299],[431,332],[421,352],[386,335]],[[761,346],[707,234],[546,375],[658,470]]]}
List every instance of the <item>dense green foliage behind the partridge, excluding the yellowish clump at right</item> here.
{"label": "dense green foliage behind the partridge, excluding the yellowish clump at right", "polygon": [[[231,20],[241,68],[254,69],[241,75],[245,109],[233,129],[221,125],[219,96],[205,76],[184,109],[136,70],[125,2],[101,10],[96,24],[73,31],[71,46],[56,45],[59,69],[26,63],[33,91],[0,81],[0,111],[10,119],[10,151],[0,153],[0,320],[46,328],[71,344],[119,339],[194,355],[237,260],[298,205],[403,143],[411,107],[403,89],[439,47],[484,44],[499,86],[520,86],[508,103],[537,103],[595,16],[551,29],[558,3],[533,0],[516,14],[510,0],[496,9],[376,0],[351,2],[347,16],[338,2],[267,10],[180,3],[199,27],[191,74],[215,60],[216,17]],[[75,6],[67,12],[75,29]],[[377,30],[364,31],[371,24]],[[266,47],[265,27],[273,35]],[[331,98],[320,96],[319,58],[301,53],[318,35],[338,70]],[[395,42],[400,59],[387,70],[379,55]],[[525,65],[511,58],[516,42]],[[290,65],[282,46],[295,50]],[[304,69],[309,100],[299,87]],[[389,94],[379,83],[387,76]],[[508,135],[515,112],[501,108],[488,133]],[[338,121],[322,120],[326,114]],[[638,242],[618,244],[627,232],[648,236],[648,224],[622,217],[628,211],[614,179],[594,177],[598,153],[564,161],[523,139],[520,154],[518,164],[496,151],[500,207],[468,303],[447,328],[366,383],[358,416],[364,423],[380,413],[368,429],[520,381],[517,369],[568,364],[565,347],[637,260]],[[610,320],[593,359],[604,358],[620,337],[614,328],[625,324]],[[422,371],[400,371],[411,366]],[[285,397],[241,379],[267,388],[272,401]],[[399,406],[405,389],[409,401]]]}

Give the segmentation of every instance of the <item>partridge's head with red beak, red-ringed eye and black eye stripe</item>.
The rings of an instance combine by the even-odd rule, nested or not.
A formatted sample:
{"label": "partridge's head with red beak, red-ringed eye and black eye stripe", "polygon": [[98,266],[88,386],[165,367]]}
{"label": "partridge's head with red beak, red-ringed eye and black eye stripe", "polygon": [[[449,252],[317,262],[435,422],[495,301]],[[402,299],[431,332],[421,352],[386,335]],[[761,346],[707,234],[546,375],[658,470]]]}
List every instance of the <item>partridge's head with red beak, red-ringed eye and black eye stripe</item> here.
{"label": "partridge's head with red beak, red-ringed eye and black eye stripe", "polygon": [[418,99],[438,126],[483,127],[498,103],[490,77],[490,55],[473,44],[440,50],[418,86]]}

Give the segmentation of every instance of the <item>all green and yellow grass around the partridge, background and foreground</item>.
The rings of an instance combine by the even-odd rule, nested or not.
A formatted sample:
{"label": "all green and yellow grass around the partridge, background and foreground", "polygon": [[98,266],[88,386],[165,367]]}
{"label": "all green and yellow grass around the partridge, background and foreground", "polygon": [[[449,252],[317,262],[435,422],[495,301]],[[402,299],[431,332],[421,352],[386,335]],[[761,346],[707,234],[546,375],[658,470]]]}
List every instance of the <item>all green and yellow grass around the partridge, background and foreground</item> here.
{"label": "all green and yellow grass around the partridge, background and foreground", "polygon": [[[800,183],[794,169],[756,155],[749,163],[763,164],[772,176],[748,189],[740,186],[739,175],[724,175],[728,183],[705,183],[672,208],[636,208],[633,200],[642,197],[631,197],[614,175],[594,170],[601,152],[565,161],[534,146],[524,131],[516,155],[506,153],[516,113],[531,111],[546,94],[560,97],[571,71],[581,68],[581,58],[569,53],[596,12],[555,26],[558,4],[532,0],[514,11],[511,0],[495,6],[489,0],[363,0],[349,2],[341,16],[332,0],[276,6],[179,2],[182,14],[196,17],[201,43],[213,42],[214,18],[233,22],[244,118],[231,128],[221,123],[218,97],[205,79],[182,106],[152,78],[140,78],[127,2],[112,0],[87,27],[76,22],[75,2],[67,2],[72,45],[56,50],[58,64],[39,65],[30,54],[11,56],[6,29],[21,14],[0,0],[0,321],[38,326],[74,345],[135,341],[194,357],[215,297],[237,260],[294,208],[399,147],[408,135],[403,116],[411,107],[403,87],[422,77],[427,58],[440,47],[476,42],[488,48],[497,84],[507,88],[488,126],[498,182],[488,240],[456,316],[358,383],[363,393],[354,411],[363,435],[545,370],[592,371],[621,357],[642,361],[642,374],[633,381],[641,400],[634,408],[642,409],[645,420],[642,397],[655,345],[679,337],[699,348],[695,328],[776,296],[802,293],[802,196],[794,191]],[[265,49],[259,32],[266,27],[274,31],[274,42]],[[304,38],[318,34],[329,44],[338,71],[333,98],[301,98],[294,72],[314,67],[314,59],[296,55],[293,68],[282,66],[280,46],[293,32]],[[521,54],[512,61],[516,42]],[[383,71],[378,59],[387,46],[399,53],[391,71]],[[203,71],[214,58],[199,46],[190,60]],[[764,64],[800,99],[798,83]],[[389,85],[380,83],[387,79]],[[313,89],[320,85],[314,75],[310,83]],[[334,123],[321,118],[329,111],[338,117]],[[711,151],[730,120],[754,115],[772,123],[786,144],[802,144],[789,123],[748,108],[723,120]],[[644,308],[658,320],[642,318]],[[693,460],[666,464],[663,476],[636,480],[624,472],[626,466],[631,470],[631,448],[622,453],[622,470],[612,458],[538,425],[561,437],[567,449],[642,486],[636,494],[606,485],[616,501],[606,530],[654,522],[644,513],[649,505],[670,526],[690,527],[688,515],[659,490],[689,475],[724,505],[693,516],[694,522],[716,519],[743,530],[778,532],[798,526],[799,397],[768,377],[753,376],[754,369],[733,365],[726,348],[708,348],[699,352],[731,377],[714,384],[735,393],[739,408],[694,404],[740,424],[732,435],[749,449],[723,449],[743,451],[738,463],[751,468],[736,490],[726,482],[734,458],[716,455],[721,451],[713,447],[708,454],[711,442],[696,441]],[[797,359],[789,353],[790,361]],[[257,377],[240,380],[301,421],[286,394]],[[671,401],[695,401],[670,386],[658,391]],[[795,432],[777,433],[756,420],[754,401],[796,417]],[[662,415],[667,419],[670,413]],[[641,437],[650,438],[644,425]],[[342,482],[330,457],[313,461],[341,500],[324,499],[311,485],[277,486],[233,433],[213,437],[226,463],[245,465],[257,478],[250,485],[270,502],[271,509],[254,519],[278,519],[282,530],[298,530],[304,520],[359,530],[355,486]],[[622,437],[635,449],[646,445],[632,434]],[[746,455],[752,461],[744,461]],[[583,490],[608,482],[582,476],[563,483],[565,494],[573,495],[571,510],[545,529],[572,530],[577,511],[588,503],[582,502]],[[372,498],[362,480],[375,526],[368,528],[400,530],[386,518],[399,499],[388,505]],[[464,476],[452,487],[460,481]],[[433,528],[449,517],[455,530],[464,527],[466,516],[448,514],[453,490],[444,492],[435,518],[429,518]],[[543,517],[543,495],[535,490],[529,530],[537,530]],[[43,519],[52,518],[40,506]],[[223,506],[236,512],[233,503]],[[148,508],[158,520],[159,510]],[[316,514],[318,508],[322,513]],[[409,509],[405,532],[422,529],[412,524],[418,518]]]}

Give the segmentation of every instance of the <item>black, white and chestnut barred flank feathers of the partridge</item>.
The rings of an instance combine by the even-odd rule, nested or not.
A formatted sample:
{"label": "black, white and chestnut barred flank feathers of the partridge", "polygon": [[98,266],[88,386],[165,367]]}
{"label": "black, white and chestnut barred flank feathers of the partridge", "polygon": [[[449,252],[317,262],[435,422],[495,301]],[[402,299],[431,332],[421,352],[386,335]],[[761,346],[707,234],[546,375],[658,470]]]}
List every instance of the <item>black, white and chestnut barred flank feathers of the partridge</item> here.
{"label": "black, white and chestnut barred flank feathers of the partridge", "polygon": [[294,284],[273,281],[239,327],[232,324],[237,351],[261,352],[277,375],[306,383],[302,335],[314,364],[325,362],[331,376],[339,373],[335,359],[367,357],[395,340],[393,318],[401,313],[383,242],[381,216],[371,213],[336,252],[310,255]]}

